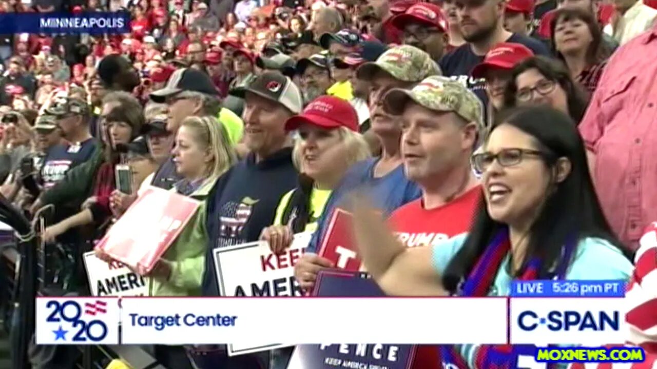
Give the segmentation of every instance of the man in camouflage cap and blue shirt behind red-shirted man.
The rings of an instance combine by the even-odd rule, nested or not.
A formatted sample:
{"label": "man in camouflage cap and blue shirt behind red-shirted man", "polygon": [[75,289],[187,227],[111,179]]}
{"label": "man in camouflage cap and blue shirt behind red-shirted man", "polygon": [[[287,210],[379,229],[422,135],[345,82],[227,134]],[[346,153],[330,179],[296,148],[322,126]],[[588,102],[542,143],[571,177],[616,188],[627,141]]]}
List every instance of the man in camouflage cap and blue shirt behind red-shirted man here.
{"label": "man in camouflage cap and blue shirt behind red-shirted man", "polygon": [[440,74],[438,64],[429,54],[410,45],[392,47],[381,54],[376,62],[367,62],[356,70],[358,79],[371,83],[371,129],[365,132],[365,138],[378,158],[353,165],[343,179],[343,185],[334,188],[332,200],[317,223],[307,252],[296,265],[294,275],[304,288],[309,288],[307,286],[313,284],[317,271],[328,265],[327,259],[313,255],[313,252],[319,250],[330,216],[344,200],[340,197],[342,194],[354,188],[367,188],[367,193],[373,194],[370,200],[385,215],[419,197],[418,186],[404,175],[403,158],[399,151],[401,117],[384,110],[383,97],[390,89],[411,88],[426,77]]}

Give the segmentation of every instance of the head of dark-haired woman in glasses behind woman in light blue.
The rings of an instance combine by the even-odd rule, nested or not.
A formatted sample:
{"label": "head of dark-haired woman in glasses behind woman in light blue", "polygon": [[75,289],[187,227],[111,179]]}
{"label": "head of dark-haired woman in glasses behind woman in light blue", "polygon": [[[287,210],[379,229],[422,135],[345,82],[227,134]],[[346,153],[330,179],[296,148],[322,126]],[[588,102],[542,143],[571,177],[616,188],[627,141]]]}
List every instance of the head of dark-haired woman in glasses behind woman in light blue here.
{"label": "head of dark-haired woman in glasses behind woman in light blue", "polygon": [[516,64],[504,94],[505,105],[547,105],[568,114],[576,124],[589,104],[587,94],[558,60],[533,56]]}

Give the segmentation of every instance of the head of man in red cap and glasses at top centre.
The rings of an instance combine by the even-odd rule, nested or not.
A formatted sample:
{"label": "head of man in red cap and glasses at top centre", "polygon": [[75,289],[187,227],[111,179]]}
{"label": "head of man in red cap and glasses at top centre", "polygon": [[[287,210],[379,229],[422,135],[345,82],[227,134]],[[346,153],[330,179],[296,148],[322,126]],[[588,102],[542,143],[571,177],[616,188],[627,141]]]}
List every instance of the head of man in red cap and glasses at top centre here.
{"label": "head of man in red cap and glasses at top centre", "polygon": [[445,46],[449,43],[447,21],[438,5],[413,5],[404,14],[395,16],[392,24],[401,30],[404,45],[426,51],[434,60],[440,60],[445,54]]}

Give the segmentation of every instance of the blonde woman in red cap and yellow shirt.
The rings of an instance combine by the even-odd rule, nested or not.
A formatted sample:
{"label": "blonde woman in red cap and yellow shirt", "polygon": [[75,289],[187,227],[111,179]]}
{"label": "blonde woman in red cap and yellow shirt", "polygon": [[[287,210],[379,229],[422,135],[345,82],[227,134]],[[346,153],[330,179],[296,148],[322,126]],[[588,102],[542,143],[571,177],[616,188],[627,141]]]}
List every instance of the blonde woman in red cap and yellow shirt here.
{"label": "blonde woman in red cap and yellow shirt", "polygon": [[332,189],[351,165],[370,156],[358,133],[357,113],[341,98],[313,100],[302,114],[288,120],[286,129],[298,130],[292,158],[301,175],[298,187],[281,199],[273,225],[262,232],[261,239],[274,253],[288,248],[293,234],[317,228]]}

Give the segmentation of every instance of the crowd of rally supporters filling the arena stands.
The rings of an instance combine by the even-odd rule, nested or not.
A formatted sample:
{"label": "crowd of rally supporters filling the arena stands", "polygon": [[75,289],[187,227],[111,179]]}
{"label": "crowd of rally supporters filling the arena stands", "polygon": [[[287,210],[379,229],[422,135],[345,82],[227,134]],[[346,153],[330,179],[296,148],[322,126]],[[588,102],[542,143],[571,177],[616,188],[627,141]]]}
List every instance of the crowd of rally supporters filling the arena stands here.
{"label": "crowd of rally supporters filling the arena stands", "polygon": [[[30,217],[50,209],[43,293],[88,295],[81,254],[154,186],[201,205],[144,275],[148,295],[219,295],[212,250],[265,240],[282,253],[299,232],[313,232],[294,269],[310,291],[334,267],[317,253],[343,209],[388,295],[632,280],[631,343],[654,349],[643,277],[656,248],[641,246],[657,221],[654,2],[0,4],[132,19],[124,35],[0,35],[0,192]],[[153,348],[175,369],[284,369],[291,353]],[[413,367],[489,368],[493,355],[516,367],[486,345],[420,346]],[[34,368],[75,359],[31,350]]]}

